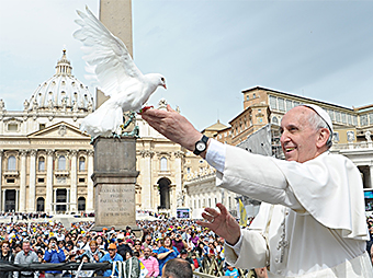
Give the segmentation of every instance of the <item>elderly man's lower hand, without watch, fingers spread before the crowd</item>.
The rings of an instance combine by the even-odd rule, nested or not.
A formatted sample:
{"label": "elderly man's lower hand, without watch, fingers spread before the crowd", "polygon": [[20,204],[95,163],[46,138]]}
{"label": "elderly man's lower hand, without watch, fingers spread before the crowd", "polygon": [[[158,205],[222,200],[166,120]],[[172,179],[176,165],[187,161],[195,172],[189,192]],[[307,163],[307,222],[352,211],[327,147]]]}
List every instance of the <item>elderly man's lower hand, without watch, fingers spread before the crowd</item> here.
{"label": "elderly man's lower hand, without watch, fingers spread before the crowd", "polygon": [[207,222],[196,221],[196,223],[213,230],[216,234],[225,239],[227,243],[235,245],[241,235],[239,224],[223,204],[218,202],[216,207],[218,207],[221,212],[213,208],[205,208],[202,217]]}

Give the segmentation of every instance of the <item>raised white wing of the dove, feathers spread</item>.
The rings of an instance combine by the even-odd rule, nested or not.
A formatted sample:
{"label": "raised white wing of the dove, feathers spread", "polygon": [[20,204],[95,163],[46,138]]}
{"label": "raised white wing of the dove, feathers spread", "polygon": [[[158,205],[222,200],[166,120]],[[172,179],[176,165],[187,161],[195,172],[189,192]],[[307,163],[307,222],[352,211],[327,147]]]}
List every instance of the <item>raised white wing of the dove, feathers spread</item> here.
{"label": "raised white wing of the dove, feathers spread", "polygon": [[81,26],[74,37],[83,43],[83,59],[92,67],[106,95],[115,95],[144,79],[134,63],[127,47],[115,37],[86,7],[87,14],[77,11]]}

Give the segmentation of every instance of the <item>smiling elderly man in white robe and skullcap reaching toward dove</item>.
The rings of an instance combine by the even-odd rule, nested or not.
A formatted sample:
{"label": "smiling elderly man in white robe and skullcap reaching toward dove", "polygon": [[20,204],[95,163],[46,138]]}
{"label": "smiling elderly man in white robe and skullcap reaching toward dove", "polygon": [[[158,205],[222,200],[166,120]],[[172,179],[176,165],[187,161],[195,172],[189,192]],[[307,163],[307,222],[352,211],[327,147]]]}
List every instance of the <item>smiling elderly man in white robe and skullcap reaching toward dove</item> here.
{"label": "smiling elderly man in white robe and skullcap reaching toward dove", "polygon": [[206,208],[200,221],[226,241],[228,264],[267,267],[269,277],[373,277],[359,170],[331,154],[332,124],[317,105],[289,111],[281,121],[286,161],[222,144],[170,106],[142,114],[160,134],[205,158],[217,186],[262,200],[249,230],[227,209]]}

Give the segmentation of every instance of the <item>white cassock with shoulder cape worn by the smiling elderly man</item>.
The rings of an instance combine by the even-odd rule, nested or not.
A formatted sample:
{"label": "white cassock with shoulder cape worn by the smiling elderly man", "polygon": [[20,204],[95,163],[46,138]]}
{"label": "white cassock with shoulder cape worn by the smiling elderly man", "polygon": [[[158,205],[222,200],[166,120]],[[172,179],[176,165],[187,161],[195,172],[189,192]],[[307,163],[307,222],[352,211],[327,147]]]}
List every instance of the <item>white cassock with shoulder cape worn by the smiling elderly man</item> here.
{"label": "white cassock with shoulder cape worn by the smiling elderly man", "polygon": [[239,242],[225,245],[229,264],[269,266],[269,277],[373,277],[362,178],[349,159],[289,162],[211,140],[206,161],[217,186],[263,201]]}

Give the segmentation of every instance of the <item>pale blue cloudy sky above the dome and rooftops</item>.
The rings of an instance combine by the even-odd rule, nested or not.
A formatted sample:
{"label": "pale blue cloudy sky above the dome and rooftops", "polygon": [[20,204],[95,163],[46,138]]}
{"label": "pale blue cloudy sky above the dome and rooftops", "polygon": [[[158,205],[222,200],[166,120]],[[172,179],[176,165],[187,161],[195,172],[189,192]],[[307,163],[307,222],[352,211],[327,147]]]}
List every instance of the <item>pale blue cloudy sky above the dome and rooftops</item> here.
{"label": "pale blue cloudy sky above the dome and rooftops", "polygon": [[[99,0],[0,0],[0,99],[22,111],[63,49],[84,78],[76,10]],[[134,61],[202,130],[228,125],[242,91],[263,86],[346,107],[373,104],[373,1],[133,0]]]}

